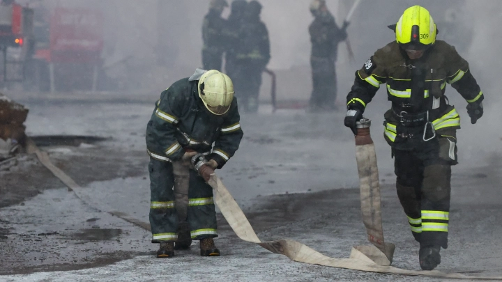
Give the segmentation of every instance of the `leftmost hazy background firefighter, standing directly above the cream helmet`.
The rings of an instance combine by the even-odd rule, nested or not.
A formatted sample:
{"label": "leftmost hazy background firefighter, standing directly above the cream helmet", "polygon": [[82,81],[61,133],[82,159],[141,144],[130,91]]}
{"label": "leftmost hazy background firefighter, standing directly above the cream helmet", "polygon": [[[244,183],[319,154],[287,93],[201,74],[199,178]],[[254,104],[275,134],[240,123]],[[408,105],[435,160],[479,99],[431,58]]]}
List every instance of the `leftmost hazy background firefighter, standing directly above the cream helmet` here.
{"label": "leftmost hazy background firefighter, standing directly above the cream helmet", "polygon": [[202,64],[205,70],[222,70],[223,52],[227,36],[222,32],[227,26],[227,20],[221,14],[228,3],[225,0],[211,0],[209,12],[204,17],[202,24]]}

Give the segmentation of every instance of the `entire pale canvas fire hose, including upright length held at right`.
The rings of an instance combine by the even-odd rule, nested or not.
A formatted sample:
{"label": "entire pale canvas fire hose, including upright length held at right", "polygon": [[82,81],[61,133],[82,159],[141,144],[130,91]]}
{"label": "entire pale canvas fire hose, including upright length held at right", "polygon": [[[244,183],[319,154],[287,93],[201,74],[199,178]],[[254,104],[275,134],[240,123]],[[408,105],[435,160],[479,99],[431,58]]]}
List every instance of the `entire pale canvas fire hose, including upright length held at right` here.
{"label": "entire pale canvas fire hose, including upright length held at right", "polygon": [[[368,165],[365,167],[358,168],[360,176],[363,178],[360,180],[361,184],[361,204],[363,208],[363,221],[368,229],[368,237],[370,242],[374,246],[356,246],[353,247],[351,251],[350,258],[330,258],[324,256],[322,253],[311,249],[300,242],[289,239],[280,239],[268,242],[261,242],[259,237],[254,233],[254,230],[245,217],[245,214],[238,206],[234,198],[231,196],[223,182],[218,178],[209,166],[204,164],[204,161],[199,160],[195,163],[198,166],[198,171],[201,177],[203,177],[214,190],[214,200],[215,204],[220,208],[221,213],[227,219],[228,224],[231,226],[234,233],[241,238],[241,240],[246,242],[252,242],[258,244],[259,246],[271,251],[272,253],[277,253],[280,255],[287,256],[291,260],[299,263],[308,263],[313,265],[324,265],[327,267],[337,267],[344,269],[353,269],[363,272],[376,272],[383,274],[399,274],[399,275],[411,275],[411,276],[429,276],[447,279],[479,279],[479,280],[494,280],[501,281],[501,277],[487,277],[487,276],[467,276],[459,273],[444,273],[436,270],[433,271],[416,271],[400,269],[397,267],[390,266],[393,253],[393,244],[385,243],[383,241],[383,232],[381,232],[381,217],[374,217],[375,220],[367,219],[367,211],[365,209],[369,208],[370,213],[378,211],[380,212],[380,198],[379,198],[379,187],[377,185],[378,181],[375,179],[375,175],[378,178],[378,172],[376,167],[376,158],[372,159],[374,155],[374,144],[370,137],[370,125],[363,123],[359,125],[360,130],[358,130],[358,136],[356,136],[356,156],[358,157],[358,162],[367,161]],[[61,182],[63,182],[70,191],[73,191],[75,195],[84,201],[87,205],[91,205],[92,202],[89,198],[84,196],[82,193],[82,187],[77,185],[77,183],[70,178],[66,173],[61,171],[58,167],[52,164],[47,152],[43,152],[36,144],[29,139],[27,141],[27,152],[35,153],[43,166],[49,169]],[[365,158],[369,157],[365,160]],[[374,167],[372,164],[375,164]],[[378,196],[372,196],[372,192],[377,192]],[[91,205],[92,206],[92,205]],[[95,207],[96,208],[96,207]],[[132,224],[135,224],[146,230],[151,230],[150,225],[130,217],[128,214],[116,211],[107,211],[109,214],[113,214],[123,220],[126,220]],[[371,230],[370,230],[371,229]],[[370,236],[373,236],[371,239]],[[392,246],[391,246],[392,245]],[[387,249],[390,248],[390,249]],[[387,264],[388,263],[388,264]]]}

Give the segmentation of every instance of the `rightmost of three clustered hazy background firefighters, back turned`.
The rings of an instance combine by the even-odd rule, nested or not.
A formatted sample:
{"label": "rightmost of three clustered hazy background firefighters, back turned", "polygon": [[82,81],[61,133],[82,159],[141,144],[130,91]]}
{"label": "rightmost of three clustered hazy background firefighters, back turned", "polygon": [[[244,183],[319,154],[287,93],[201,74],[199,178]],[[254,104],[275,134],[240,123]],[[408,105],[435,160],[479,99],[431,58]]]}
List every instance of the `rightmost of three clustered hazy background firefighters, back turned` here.
{"label": "rightmost of three clustered hazy background firefighters, back turned", "polygon": [[260,13],[261,4],[258,1],[250,1],[246,6],[232,77],[241,107],[251,113],[258,111],[261,74],[271,58],[268,31],[260,20]]}

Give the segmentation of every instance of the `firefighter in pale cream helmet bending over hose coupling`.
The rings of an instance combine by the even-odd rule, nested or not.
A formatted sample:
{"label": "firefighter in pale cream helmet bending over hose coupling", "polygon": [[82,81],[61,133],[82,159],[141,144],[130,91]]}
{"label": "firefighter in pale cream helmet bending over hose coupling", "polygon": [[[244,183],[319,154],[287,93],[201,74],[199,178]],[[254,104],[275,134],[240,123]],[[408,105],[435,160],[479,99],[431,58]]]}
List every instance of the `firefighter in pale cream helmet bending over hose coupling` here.
{"label": "firefighter in pale cream helmet bending over hose coupling", "polygon": [[[174,242],[185,249],[191,240],[200,240],[201,256],[220,256],[213,242],[218,237],[213,190],[190,169],[190,159],[202,154],[208,166],[221,169],[241,143],[239,119],[232,81],[218,70],[197,69],[160,94],[146,127],[158,258],[174,256]],[[179,230],[185,222],[188,230]]]}

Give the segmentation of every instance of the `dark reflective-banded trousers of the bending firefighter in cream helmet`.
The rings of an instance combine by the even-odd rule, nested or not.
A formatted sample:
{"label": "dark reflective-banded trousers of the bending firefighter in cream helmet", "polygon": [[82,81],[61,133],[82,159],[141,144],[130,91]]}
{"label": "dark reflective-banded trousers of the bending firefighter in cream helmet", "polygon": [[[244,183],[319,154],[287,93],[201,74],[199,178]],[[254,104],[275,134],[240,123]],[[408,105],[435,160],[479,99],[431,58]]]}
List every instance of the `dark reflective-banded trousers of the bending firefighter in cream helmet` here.
{"label": "dark reflective-banded trousers of the bending firefighter in cream helmet", "polygon": [[[176,169],[180,169],[178,166]],[[186,221],[192,240],[218,237],[213,189],[196,171],[188,169],[188,208]],[[174,194],[174,171],[171,162],[150,158],[150,225],[152,243],[178,239],[178,209]],[[178,201],[176,201],[178,200]],[[181,209],[183,211],[183,209]]]}

